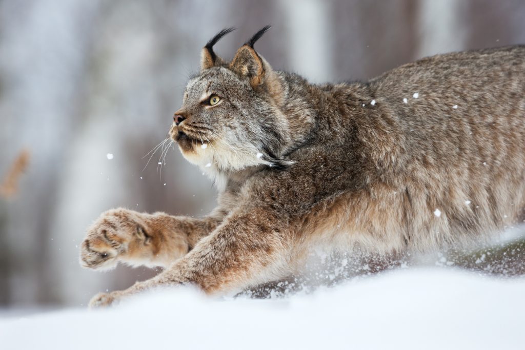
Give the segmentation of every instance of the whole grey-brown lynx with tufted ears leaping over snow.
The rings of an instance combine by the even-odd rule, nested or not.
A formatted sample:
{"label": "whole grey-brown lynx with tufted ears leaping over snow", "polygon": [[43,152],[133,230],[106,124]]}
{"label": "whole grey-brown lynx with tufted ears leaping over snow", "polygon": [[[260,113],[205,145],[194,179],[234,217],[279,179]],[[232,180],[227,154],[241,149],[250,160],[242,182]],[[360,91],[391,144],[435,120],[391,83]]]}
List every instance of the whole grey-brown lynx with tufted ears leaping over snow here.
{"label": "whole grey-brown lynx with tufted ears leaping over snow", "polygon": [[81,263],[163,266],[109,305],[160,285],[232,293],[292,274],[317,245],[428,251],[488,237],[525,206],[525,46],[424,58],[369,82],[311,84],[254,49],[202,51],[170,129],[211,176],[218,207],[194,219],[103,213]]}

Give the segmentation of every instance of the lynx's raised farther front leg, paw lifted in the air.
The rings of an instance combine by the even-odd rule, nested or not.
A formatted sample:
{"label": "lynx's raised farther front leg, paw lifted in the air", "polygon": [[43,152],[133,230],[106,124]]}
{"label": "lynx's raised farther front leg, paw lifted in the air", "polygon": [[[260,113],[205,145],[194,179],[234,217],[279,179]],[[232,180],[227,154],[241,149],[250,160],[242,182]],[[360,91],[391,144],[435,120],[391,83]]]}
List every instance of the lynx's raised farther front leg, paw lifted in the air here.
{"label": "lynx's raised farther front leg, paw lifted in the air", "polygon": [[119,261],[135,266],[165,267],[184,256],[217,225],[218,220],[214,218],[108,210],[88,229],[80,262],[91,269],[109,269]]}

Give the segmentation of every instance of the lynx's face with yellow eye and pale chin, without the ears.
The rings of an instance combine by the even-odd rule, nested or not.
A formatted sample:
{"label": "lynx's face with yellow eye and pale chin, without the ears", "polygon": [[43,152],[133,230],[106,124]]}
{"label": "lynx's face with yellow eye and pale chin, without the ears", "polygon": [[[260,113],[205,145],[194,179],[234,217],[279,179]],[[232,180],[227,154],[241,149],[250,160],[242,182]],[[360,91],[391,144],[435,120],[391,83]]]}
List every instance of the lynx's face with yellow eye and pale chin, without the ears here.
{"label": "lynx's face with yellow eye and pale chin, without the ears", "polygon": [[[188,161],[204,167],[209,163],[228,171],[269,164],[262,154],[277,147],[268,143],[282,142],[283,136],[275,128],[278,110],[272,101],[254,94],[224,67],[208,69],[190,80],[176,114],[184,119],[179,117],[182,121],[178,125],[174,122],[172,139]],[[275,135],[268,135],[267,125]]]}

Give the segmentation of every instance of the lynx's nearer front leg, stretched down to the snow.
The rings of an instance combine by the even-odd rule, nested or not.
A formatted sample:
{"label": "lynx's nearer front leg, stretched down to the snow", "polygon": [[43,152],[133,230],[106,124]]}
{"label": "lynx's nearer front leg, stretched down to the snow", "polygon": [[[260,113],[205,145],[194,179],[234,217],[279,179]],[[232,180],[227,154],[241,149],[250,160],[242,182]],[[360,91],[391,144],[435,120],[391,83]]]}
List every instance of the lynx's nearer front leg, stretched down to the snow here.
{"label": "lynx's nearer front leg, stretched down to the snow", "polygon": [[275,226],[276,218],[266,214],[227,219],[169,269],[127,290],[98,294],[90,306],[106,306],[159,286],[191,283],[206,293],[228,293],[281,278],[287,272],[290,244]]}

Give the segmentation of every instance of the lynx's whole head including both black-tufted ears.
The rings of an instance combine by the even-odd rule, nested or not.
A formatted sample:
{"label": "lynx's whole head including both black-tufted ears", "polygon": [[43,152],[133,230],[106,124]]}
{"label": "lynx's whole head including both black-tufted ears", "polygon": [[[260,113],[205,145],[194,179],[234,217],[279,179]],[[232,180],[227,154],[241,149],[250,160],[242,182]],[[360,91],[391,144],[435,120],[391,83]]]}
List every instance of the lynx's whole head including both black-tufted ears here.
{"label": "lynx's whole head including both black-tufted ears", "polygon": [[184,157],[211,176],[249,166],[277,170],[290,143],[281,111],[286,91],[282,77],[254,49],[266,26],[241,46],[232,61],[213,46],[233,28],[220,31],[202,50],[201,71],[188,81],[182,107],[170,130]]}

